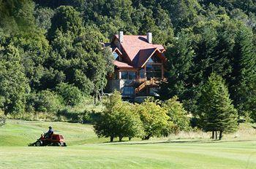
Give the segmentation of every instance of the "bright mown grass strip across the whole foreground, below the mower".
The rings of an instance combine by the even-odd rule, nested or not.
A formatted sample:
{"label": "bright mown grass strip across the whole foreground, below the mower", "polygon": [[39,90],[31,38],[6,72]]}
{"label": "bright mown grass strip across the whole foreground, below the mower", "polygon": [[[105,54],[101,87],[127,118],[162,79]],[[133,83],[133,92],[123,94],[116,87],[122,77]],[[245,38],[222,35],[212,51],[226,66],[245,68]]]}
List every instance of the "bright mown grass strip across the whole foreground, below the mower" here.
{"label": "bright mown grass strip across the whole foreground, below the mower", "polygon": [[0,168],[256,168],[256,142],[0,146]]}

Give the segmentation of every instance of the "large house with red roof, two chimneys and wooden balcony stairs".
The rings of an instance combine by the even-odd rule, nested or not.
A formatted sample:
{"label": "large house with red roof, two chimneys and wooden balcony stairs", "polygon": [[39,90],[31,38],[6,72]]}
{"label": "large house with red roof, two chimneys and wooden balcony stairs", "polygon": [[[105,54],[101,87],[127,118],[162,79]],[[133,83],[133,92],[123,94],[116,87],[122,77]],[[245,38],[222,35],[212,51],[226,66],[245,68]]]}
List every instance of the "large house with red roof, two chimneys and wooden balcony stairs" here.
{"label": "large house with red roof, two chimneys and wooden balcony stairs", "polygon": [[165,48],[152,44],[152,34],[146,36],[113,36],[110,47],[114,56],[115,72],[108,79],[108,92],[121,91],[122,97],[135,101],[157,95],[159,82],[165,79]]}

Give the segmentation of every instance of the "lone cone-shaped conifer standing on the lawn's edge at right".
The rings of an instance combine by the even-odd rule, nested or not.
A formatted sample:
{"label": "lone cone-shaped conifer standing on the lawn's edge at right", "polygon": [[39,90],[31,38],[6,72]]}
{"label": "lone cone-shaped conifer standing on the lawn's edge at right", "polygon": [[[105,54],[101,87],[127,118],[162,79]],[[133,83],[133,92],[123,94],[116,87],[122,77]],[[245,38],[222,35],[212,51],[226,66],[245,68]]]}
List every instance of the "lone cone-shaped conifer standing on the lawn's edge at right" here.
{"label": "lone cone-shaped conifer standing on the lawn's edge at right", "polygon": [[219,131],[219,140],[222,139],[223,132],[230,133],[238,128],[238,114],[221,76],[211,74],[208,82],[203,85],[199,105],[203,130],[212,133]]}

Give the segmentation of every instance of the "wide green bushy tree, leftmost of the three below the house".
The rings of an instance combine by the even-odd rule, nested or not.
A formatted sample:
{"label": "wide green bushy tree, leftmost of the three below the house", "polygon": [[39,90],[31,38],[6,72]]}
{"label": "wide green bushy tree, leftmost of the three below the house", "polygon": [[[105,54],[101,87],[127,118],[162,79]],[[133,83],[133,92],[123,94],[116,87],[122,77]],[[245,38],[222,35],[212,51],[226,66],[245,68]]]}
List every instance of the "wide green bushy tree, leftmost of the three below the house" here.
{"label": "wide green bushy tree, leftmost of the three below the house", "polygon": [[115,137],[122,138],[140,137],[143,126],[140,116],[132,108],[131,103],[121,101],[121,95],[114,92],[104,103],[105,109],[99,114],[94,124],[95,133],[99,137],[110,137],[112,142]]}

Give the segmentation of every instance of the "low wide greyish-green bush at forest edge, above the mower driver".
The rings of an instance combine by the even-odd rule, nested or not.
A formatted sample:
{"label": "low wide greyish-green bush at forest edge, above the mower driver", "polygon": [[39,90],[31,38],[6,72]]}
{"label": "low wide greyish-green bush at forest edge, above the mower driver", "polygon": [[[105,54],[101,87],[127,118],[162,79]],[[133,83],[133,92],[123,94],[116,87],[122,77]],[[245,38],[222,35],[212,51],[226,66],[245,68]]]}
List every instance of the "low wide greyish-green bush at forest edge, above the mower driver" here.
{"label": "low wide greyish-green bush at forest edge, above the mower driver", "polygon": [[61,97],[50,90],[31,93],[26,100],[26,111],[28,112],[57,112],[63,107]]}

